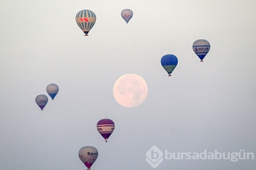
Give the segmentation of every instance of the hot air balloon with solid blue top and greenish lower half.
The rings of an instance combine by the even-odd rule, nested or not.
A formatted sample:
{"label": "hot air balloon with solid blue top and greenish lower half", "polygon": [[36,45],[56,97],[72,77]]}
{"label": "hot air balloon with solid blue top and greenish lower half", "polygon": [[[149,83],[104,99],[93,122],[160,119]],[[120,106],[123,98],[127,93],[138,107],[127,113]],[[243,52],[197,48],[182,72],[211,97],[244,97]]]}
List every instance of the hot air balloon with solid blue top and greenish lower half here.
{"label": "hot air balloon with solid blue top and greenish lower half", "polygon": [[171,73],[178,64],[178,58],[173,54],[166,54],[161,58],[161,64],[167,71],[168,76],[172,76]]}

